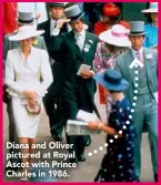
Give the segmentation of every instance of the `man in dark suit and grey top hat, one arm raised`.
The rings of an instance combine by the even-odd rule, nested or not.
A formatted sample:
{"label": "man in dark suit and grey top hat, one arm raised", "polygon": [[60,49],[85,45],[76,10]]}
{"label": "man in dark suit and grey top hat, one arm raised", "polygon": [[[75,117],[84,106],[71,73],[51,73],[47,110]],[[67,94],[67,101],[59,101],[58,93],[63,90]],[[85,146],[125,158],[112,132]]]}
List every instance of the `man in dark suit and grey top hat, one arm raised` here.
{"label": "man in dark suit and grey top hat, one arm raised", "polygon": [[[59,38],[54,34],[50,40],[51,50],[49,52],[51,55],[52,53],[57,53],[60,61],[58,78],[63,93],[66,117],[67,120],[76,120],[79,110],[87,112],[93,112],[94,110],[97,112],[94,105],[95,82],[92,79],[92,62],[99,39],[97,35],[84,30],[84,13],[80,11],[78,4],[67,8],[64,13],[70,19],[69,23],[72,31]],[[83,71],[80,75],[77,75],[82,63],[90,65],[91,70]],[[76,152],[76,158],[71,160],[71,162],[85,161],[83,155],[83,136],[67,135],[67,142],[73,144],[73,148],[69,152]]]}

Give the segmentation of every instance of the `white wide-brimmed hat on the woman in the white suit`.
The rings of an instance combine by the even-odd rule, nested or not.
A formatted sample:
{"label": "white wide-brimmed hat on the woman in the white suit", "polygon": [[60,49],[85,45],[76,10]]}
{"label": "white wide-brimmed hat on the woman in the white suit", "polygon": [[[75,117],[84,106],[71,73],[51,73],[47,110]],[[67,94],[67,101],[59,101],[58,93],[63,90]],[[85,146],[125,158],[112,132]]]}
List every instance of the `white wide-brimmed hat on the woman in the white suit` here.
{"label": "white wide-brimmed hat on the woman in the white suit", "polygon": [[29,38],[34,38],[42,33],[44,33],[44,31],[43,30],[37,31],[34,25],[23,25],[19,28],[17,34],[9,37],[9,40],[21,41]]}

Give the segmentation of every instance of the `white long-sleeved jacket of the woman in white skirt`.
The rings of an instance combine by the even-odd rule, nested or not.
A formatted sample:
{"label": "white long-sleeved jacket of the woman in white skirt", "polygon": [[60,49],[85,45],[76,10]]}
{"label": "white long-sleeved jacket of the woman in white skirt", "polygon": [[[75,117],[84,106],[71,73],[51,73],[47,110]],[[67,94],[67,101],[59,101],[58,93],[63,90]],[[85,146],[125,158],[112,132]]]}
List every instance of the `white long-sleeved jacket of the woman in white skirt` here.
{"label": "white long-sleeved jacket of the woman in white skirt", "polygon": [[[40,82],[42,78],[42,82]],[[12,96],[24,97],[23,91],[36,91],[39,96],[47,93],[53,81],[47,51],[31,48],[27,62],[21,49],[10,50],[6,64],[6,84]]]}

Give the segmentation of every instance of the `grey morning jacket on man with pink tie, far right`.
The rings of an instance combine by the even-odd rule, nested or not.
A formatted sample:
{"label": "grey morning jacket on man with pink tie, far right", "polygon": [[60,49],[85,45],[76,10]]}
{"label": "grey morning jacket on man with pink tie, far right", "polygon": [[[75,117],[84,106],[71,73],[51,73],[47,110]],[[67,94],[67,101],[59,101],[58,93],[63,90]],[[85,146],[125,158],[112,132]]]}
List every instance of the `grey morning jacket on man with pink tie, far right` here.
{"label": "grey morning jacket on man with pink tie, far right", "polygon": [[[129,82],[129,88],[125,90],[125,95],[130,102],[134,96],[134,66],[130,69],[130,64],[133,62],[134,56],[132,50],[129,49],[115,59],[115,70],[119,70],[122,76]],[[147,72],[147,81],[150,94],[154,97],[154,93],[158,92],[158,53],[153,49],[143,48],[143,61]]]}

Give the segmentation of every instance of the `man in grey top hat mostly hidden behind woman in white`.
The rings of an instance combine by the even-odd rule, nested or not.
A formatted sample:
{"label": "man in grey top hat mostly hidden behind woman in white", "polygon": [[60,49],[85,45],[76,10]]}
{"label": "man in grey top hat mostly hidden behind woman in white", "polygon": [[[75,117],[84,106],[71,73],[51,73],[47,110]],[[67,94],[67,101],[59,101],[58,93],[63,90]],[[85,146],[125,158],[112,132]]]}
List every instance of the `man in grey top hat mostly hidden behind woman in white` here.
{"label": "man in grey top hat mostly hidden behind woman in white", "polygon": [[[26,24],[33,24],[33,12],[19,12],[19,17],[18,17],[18,27],[22,27]],[[9,50],[13,50],[17,49],[19,47],[19,42],[13,42],[9,40],[9,37],[12,34],[16,34],[17,31],[14,33],[11,34],[7,34],[3,38],[3,68],[6,66],[6,60],[7,60],[7,53]],[[46,43],[44,43],[44,39],[43,37],[37,37],[34,38],[33,41],[33,47],[39,48],[39,49],[43,49],[47,50]],[[13,112],[12,112],[12,105],[11,105],[11,96],[9,95],[9,93],[6,91],[7,86],[3,85],[3,102],[7,103],[7,112],[8,112],[8,116],[9,116],[9,142],[18,142],[18,137],[17,137],[17,133],[16,133],[16,123],[14,123],[14,117],[13,117]],[[18,153],[19,151],[17,148],[10,148],[10,153]],[[19,158],[11,158],[11,163],[17,163],[19,161]],[[13,168],[16,169],[16,168]]]}

